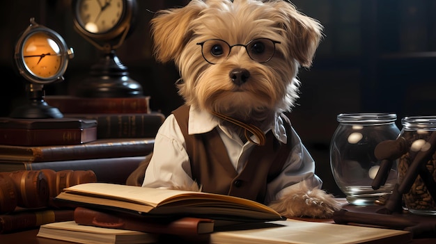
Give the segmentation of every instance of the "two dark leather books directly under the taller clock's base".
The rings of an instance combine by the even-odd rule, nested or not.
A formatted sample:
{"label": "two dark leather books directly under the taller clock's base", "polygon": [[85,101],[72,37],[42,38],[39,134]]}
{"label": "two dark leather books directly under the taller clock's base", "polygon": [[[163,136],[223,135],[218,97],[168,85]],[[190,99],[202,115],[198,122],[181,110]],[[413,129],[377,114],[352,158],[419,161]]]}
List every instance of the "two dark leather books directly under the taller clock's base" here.
{"label": "two dark leather books directly under the taller clock's base", "polygon": [[150,97],[45,97],[64,117],[97,121],[97,138],[154,138],[165,116],[150,111]]}

